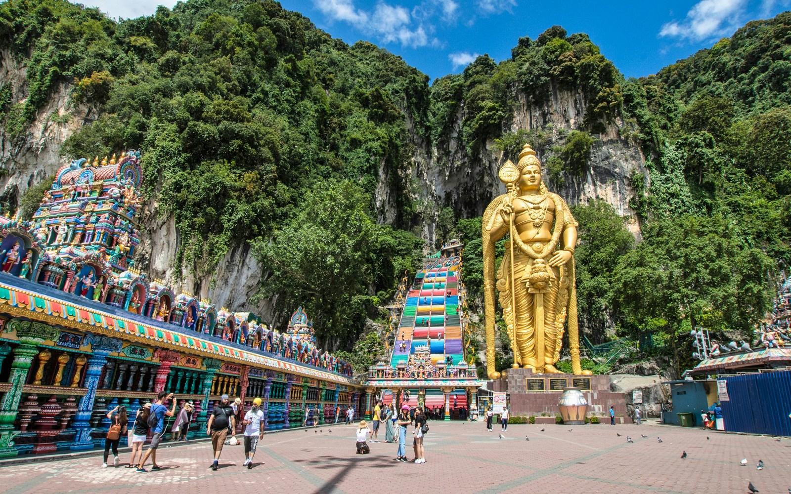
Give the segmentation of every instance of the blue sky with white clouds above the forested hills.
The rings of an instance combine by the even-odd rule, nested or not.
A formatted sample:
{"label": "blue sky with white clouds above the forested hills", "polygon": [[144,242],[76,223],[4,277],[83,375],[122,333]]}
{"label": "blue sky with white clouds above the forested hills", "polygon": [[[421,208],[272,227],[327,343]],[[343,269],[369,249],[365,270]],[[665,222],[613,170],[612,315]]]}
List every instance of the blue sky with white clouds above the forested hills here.
{"label": "blue sky with white clouds above the forested hills", "polygon": [[[81,0],[112,17],[153,13],[171,0]],[[791,0],[281,0],[346,43],[367,40],[400,55],[432,81],[458,73],[476,55],[509,58],[520,36],[552,25],[586,32],[626,77],[662,67],[710,47],[747,21],[774,17]]]}

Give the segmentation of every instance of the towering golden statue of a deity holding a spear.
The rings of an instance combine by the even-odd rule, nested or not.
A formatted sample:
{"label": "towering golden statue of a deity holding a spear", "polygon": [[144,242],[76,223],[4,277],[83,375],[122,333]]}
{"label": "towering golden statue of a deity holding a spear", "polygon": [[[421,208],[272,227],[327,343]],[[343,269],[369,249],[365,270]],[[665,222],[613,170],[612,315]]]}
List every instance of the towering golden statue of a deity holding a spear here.
{"label": "towering golden statue of a deity holding a spear", "polygon": [[566,201],[547,191],[530,145],[519,153],[516,166],[506,161],[499,175],[508,193],[494,198],[483,213],[486,371],[490,379],[500,377],[494,368],[494,243],[509,233],[496,286],[513,367],[558,373],[554,364],[568,317],[573,373],[582,374],[573,261],[577,221]]}

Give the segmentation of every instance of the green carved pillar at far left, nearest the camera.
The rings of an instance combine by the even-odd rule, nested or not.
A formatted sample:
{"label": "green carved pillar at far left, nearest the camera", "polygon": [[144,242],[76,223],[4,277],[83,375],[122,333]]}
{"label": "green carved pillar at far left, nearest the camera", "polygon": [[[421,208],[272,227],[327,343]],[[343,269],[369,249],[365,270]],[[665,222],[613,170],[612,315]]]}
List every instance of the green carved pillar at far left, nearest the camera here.
{"label": "green carved pillar at far left, nearest the camera", "polygon": [[[28,377],[28,370],[33,358],[39,353],[37,345],[44,341],[57,341],[60,334],[52,326],[34,321],[23,321],[22,319],[11,319],[6,322],[3,329],[4,333],[16,331],[19,338],[19,345],[13,349],[13,362],[11,363],[11,373],[9,384],[11,389],[3,395],[0,402],[0,458],[17,456],[18,452],[13,447],[13,438],[19,434],[14,430],[13,423],[17,420],[17,409],[19,400],[22,396],[22,386]],[[8,345],[3,345],[0,353],[8,355]]]}

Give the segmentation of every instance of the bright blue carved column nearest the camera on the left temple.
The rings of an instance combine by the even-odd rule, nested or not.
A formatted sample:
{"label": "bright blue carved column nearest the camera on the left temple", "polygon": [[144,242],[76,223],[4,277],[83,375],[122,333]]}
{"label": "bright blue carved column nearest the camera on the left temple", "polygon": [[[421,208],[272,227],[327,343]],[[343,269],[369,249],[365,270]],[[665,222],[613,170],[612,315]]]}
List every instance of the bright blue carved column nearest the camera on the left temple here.
{"label": "bright blue carved column nearest the camera on the left temple", "polygon": [[[107,364],[107,356],[112,352],[119,352],[123,346],[123,342],[118,338],[91,333],[85,334],[83,345],[89,343],[93,354],[88,359],[83,383],[88,392],[80,398],[77,413],[74,415],[74,422],[71,424],[77,432],[74,433],[74,443],[71,444],[70,449],[77,451],[93,448],[90,419],[93,412],[93,400],[96,398],[97,387],[99,387],[101,371],[104,368],[104,364]],[[75,372],[74,378],[79,382],[78,374],[79,372]]]}

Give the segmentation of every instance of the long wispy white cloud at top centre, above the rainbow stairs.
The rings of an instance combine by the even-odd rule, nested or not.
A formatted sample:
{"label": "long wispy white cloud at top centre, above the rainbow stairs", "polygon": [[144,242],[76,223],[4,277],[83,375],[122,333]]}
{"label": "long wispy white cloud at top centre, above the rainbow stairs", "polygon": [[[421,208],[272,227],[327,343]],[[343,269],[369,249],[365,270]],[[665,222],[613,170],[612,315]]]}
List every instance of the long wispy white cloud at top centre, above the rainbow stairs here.
{"label": "long wispy white cloud at top centre, above the rainbow stairs", "polygon": [[366,12],[356,8],[354,0],[314,0],[313,3],[331,20],[348,22],[367,35],[377,36],[384,43],[398,42],[414,48],[437,43],[437,40],[430,39],[422,20],[403,6],[379,2],[373,12]]}

